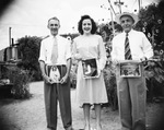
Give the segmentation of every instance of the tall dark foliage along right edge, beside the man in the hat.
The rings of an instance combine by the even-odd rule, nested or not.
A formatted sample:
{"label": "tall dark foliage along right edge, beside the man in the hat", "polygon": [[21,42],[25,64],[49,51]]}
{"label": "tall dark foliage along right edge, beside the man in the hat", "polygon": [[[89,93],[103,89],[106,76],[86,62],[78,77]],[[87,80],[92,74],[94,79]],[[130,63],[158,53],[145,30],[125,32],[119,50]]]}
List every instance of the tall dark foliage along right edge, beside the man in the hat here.
{"label": "tall dark foliage along right edge, beside the man in the hat", "polygon": [[137,28],[142,31],[152,44],[154,57],[145,67],[151,101],[153,96],[164,93],[164,1],[150,4],[139,12]]}

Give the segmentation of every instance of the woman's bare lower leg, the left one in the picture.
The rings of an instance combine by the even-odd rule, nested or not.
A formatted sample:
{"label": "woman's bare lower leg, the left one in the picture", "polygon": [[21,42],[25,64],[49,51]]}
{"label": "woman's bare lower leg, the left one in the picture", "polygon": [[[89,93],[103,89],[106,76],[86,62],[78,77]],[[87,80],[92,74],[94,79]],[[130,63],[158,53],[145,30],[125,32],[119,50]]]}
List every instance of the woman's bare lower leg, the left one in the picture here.
{"label": "woman's bare lower leg, the left one in the picture", "polygon": [[85,121],[85,126],[84,126],[84,130],[91,130],[91,126],[90,126],[90,104],[83,104],[83,113],[84,113],[84,121]]}

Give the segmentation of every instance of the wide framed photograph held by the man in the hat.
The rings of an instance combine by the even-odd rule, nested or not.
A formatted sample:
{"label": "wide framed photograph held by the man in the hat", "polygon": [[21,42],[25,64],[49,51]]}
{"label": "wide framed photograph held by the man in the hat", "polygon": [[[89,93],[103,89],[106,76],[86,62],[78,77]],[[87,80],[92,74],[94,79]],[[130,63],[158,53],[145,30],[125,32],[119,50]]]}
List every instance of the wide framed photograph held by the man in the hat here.
{"label": "wide framed photograph held by the man in the hat", "polygon": [[140,78],[141,64],[134,61],[120,62],[120,76],[121,78]]}

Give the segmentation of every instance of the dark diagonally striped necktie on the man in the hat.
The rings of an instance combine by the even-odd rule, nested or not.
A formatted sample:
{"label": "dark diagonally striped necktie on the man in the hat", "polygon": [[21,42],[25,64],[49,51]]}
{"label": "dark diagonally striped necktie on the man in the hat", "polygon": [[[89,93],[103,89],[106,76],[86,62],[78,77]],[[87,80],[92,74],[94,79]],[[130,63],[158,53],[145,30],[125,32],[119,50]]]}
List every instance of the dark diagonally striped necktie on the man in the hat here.
{"label": "dark diagonally striped necktie on the man in the hat", "polygon": [[126,40],[125,40],[125,59],[132,60],[131,50],[130,50],[130,46],[129,46],[128,33],[126,34]]}

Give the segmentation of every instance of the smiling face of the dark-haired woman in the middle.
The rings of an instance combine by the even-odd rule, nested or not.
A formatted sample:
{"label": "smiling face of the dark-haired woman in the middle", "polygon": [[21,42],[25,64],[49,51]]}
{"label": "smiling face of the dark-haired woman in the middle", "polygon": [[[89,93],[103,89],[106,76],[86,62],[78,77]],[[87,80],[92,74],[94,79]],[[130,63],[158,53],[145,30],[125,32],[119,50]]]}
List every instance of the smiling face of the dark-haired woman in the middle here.
{"label": "smiling face of the dark-haired woman in the middle", "polygon": [[90,19],[85,19],[82,22],[82,29],[84,34],[91,34],[92,31],[92,22]]}

